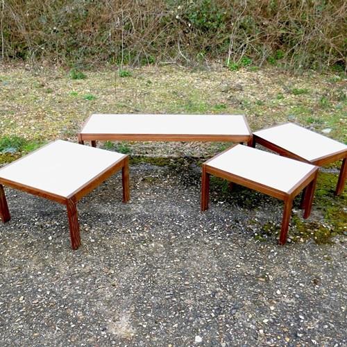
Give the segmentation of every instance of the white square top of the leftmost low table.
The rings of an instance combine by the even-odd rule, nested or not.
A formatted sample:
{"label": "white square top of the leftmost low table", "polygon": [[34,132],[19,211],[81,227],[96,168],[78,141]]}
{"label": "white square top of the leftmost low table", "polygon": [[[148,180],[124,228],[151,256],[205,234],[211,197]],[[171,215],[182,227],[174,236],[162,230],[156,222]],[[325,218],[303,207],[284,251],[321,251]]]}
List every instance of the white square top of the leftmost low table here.
{"label": "white square top of the leftmost low table", "polygon": [[126,155],[58,140],[0,169],[0,178],[68,197]]}

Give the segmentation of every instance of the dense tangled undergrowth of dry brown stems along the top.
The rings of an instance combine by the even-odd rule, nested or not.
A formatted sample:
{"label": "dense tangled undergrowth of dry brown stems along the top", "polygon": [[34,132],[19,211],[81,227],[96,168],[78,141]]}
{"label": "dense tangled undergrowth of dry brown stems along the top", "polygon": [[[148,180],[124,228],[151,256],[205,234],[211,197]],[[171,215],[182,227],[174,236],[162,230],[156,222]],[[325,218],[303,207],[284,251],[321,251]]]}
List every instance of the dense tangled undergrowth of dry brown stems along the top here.
{"label": "dense tangled undergrowth of dry brown stems along the top", "polygon": [[343,0],[3,0],[0,57],[346,69]]}

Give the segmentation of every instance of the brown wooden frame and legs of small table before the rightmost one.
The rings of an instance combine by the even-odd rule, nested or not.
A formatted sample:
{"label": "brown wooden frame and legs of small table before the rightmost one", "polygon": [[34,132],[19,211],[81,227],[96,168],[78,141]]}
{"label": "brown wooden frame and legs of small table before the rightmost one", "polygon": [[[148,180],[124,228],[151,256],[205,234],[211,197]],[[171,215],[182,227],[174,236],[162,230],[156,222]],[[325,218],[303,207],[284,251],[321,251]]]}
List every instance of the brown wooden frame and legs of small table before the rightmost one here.
{"label": "brown wooden frame and legs of small table before the rightmost one", "polygon": [[[226,151],[229,151],[227,149]],[[219,153],[214,158],[219,155],[222,155],[224,152]],[[280,239],[279,244],[283,245],[287,242],[287,234],[289,229],[289,221],[291,217],[291,209],[293,207],[294,198],[300,194],[303,189],[305,192],[301,199],[301,208],[305,210],[303,217],[307,219],[310,217],[312,210],[312,202],[314,196],[314,189],[316,188],[316,178],[318,174],[318,167],[314,167],[302,180],[300,180],[294,187],[291,188],[289,192],[282,192],[278,189],[274,189],[273,187],[268,187],[266,185],[262,185],[253,180],[248,180],[244,177],[237,176],[235,174],[230,174],[228,171],[223,171],[221,169],[217,169],[213,166],[209,165],[209,162],[213,160],[207,160],[203,163],[202,166],[202,182],[201,182],[201,211],[208,210],[208,201],[209,201],[209,192],[210,192],[210,175],[217,176],[219,178],[226,179],[231,183],[236,183],[238,185],[243,185],[244,187],[256,190],[257,192],[261,192],[267,194],[269,196],[273,196],[274,198],[279,198],[280,200],[285,202],[285,208],[282,217],[282,226],[280,230]]]}

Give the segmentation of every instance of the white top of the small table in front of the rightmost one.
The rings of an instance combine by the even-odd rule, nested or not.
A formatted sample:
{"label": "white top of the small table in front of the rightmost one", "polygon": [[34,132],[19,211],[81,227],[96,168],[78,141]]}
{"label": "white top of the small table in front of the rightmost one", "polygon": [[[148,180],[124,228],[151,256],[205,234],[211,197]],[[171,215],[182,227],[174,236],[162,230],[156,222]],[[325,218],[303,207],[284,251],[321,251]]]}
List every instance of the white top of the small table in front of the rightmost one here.
{"label": "white top of the small table in front of the rightmost one", "polygon": [[238,144],[207,162],[209,167],[288,193],[314,165]]}

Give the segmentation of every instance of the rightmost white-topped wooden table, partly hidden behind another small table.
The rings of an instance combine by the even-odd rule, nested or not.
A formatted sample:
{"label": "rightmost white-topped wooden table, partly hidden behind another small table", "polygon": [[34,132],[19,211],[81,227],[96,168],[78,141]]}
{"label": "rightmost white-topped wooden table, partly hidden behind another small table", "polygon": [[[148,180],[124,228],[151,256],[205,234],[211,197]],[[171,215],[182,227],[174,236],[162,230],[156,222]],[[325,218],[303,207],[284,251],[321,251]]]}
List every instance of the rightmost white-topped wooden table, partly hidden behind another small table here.
{"label": "rightmost white-topped wooden table, partly hidden behind another small table", "polygon": [[253,133],[253,145],[262,144],[286,157],[318,165],[342,160],[335,194],[344,191],[347,175],[347,146],[293,123],[273,126]]}

